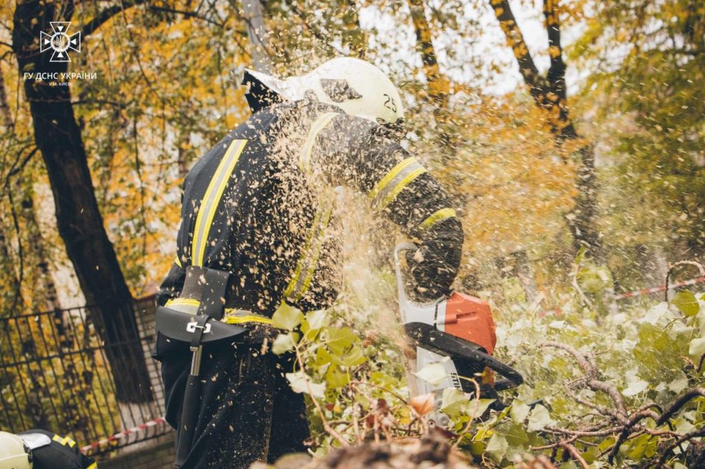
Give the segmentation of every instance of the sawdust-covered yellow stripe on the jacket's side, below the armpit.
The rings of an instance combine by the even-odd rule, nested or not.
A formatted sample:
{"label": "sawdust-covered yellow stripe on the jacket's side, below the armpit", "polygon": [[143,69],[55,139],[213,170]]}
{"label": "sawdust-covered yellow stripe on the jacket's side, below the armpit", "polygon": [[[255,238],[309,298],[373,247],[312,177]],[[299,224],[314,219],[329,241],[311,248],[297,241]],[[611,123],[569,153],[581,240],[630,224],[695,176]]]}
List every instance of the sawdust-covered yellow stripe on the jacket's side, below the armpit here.
{"label": "sawdust-covered yellow stripe on the jacket's side, below the armpit", "polygon": [[313,223],[311,225],[311,234],[309,235],[306,241],[306,246],[304,247],[296,264],[294,276],[286,286],[286,289],[284,289],[284,296],[290,301],[298,301],[307,291],[311,284],[313,273],[316,270],[318,258],[321,255],[324,234],[326,227],[331,220],[333,203],[335,201],[332,192],[324,194],[321,199],[323,199],[323,202],[319,204],[316,215],[314,215]]}

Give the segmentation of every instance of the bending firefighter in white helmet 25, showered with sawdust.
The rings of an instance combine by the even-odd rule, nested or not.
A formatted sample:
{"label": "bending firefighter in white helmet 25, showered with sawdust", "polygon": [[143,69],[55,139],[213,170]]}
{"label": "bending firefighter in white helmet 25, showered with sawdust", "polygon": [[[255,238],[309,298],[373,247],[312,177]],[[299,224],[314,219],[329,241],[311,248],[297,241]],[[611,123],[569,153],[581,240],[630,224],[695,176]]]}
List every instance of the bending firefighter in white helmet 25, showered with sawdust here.
{"label": "bending firefighter in white helmet 25, showered with sawdust", "polygon": [[[336,187],[366,194],[372,210],[417,239],[407,261],[420,296],[448,293],[460,265],[460,221],[446,192],[400,146],[402,100],[381,70],[335,58],[286,80],[247,70],[243,83],[253,115],[185,177],[176,260],[159,292],[160,305],[192,314],[222,288],[221,322],[247,331],[190,349],[158,339],[166,420],[182,436],[193,431],[185,442],[178,437],[183,468],[247,468],[305,451],[305,401],[283,377],[290,358],[263,353],[262,342],[276,337],[271,317],[281,304],[312,311],[336,299]],[[226,273],[225,286],[207,280],[215,271]],[[210,330],[195,320],[185,328],[199,337]],[[199,379],[191,382],[194,368]],[[194,383],[199,396],[187,403]],[[193,423],[184,422],[187,404],[198,408]]]}

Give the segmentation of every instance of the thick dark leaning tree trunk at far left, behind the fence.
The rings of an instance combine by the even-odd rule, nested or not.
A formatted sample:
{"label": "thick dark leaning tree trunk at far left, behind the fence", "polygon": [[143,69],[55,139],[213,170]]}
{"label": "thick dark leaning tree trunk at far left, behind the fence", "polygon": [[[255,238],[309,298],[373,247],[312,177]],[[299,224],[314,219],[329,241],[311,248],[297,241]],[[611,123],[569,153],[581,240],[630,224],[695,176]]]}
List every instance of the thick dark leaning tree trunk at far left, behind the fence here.
{"label": "thick dark leaning tree trunk at far left, behind the fence", "polygon": [[[13,51],[18,59],[25,96],[30,103],[35,142],[47,167],[56,206],[56,225],[66,244],[86,301],[99,313],[106,356],[115,377],[118,401],[152,399],[149,376],[137,333],[132,296],[103,226],[88,169],[80,129],[71,106],[70,87],[36,81],[37,73],[66,73],[68,64],[50,62],[51,51],[39,52],[42,31],[50,21],[70,20],[73,10],[57,14],[56,5],[20,1],[13,21]],[[33,73],[32,78],[25,73]]]}

